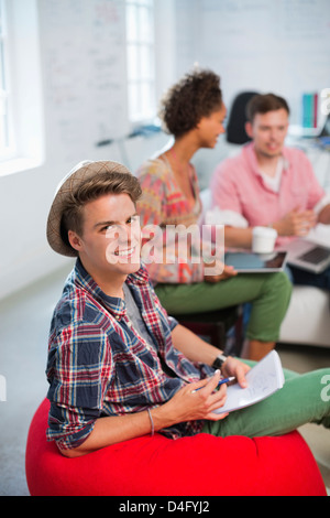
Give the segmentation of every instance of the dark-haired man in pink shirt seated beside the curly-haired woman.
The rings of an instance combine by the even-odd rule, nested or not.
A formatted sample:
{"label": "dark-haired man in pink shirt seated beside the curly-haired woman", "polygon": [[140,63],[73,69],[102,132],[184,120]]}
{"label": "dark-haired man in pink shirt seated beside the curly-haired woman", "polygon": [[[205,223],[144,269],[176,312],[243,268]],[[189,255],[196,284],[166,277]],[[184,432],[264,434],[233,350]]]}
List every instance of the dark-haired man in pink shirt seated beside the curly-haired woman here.
{"label": "dark-haired man in pink shirt seated beside the curly-haired woman", "polygon": [[[274,94],[254,96],[245,130],[252,142],[222,162],[211,180],[212,207],[226,225],[226,245],[251,248],[252,228],[272,226],[277,246],[330,224],[330,196],[319,185],[306,154],[284,145],[289,108]],[[290,267],[293,280],[330,289],[330,269],[314,274]]]}

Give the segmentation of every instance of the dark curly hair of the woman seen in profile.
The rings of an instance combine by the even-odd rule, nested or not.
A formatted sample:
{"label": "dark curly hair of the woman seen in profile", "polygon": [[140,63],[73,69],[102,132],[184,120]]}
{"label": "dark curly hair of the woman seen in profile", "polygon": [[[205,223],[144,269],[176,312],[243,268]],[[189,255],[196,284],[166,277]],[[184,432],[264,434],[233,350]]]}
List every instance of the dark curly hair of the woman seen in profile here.
{"label": "dark curly hair of the woman seen in profile", "polygon": [[221,106],[220,77],[211,71],[194,71],[167,90],[158,116],[165,131],[182,137]]}

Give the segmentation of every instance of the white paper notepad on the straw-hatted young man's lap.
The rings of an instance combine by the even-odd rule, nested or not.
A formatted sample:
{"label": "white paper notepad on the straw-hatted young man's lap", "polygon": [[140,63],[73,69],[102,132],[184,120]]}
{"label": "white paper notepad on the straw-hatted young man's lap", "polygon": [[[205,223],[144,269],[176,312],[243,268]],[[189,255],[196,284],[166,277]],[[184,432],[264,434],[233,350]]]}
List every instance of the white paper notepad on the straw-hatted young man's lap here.
{"label": "white paper notepad on the straw-hatted young man's lap", "polygon": [[285,384],[282,363],[276,350],[272,350],[262,358],[245,376],[248,387],[239,384],[227,388],[227,400],[223,407],[215,410],[215,413],[232,412],[240,408],[250,407],[272,393],[282,389]]}

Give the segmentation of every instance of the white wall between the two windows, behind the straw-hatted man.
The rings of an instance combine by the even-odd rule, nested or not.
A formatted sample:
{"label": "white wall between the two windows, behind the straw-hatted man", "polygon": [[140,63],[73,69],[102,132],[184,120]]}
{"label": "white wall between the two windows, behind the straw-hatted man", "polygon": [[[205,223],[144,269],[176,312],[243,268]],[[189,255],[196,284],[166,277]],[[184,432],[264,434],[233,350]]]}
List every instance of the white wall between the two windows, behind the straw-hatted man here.
{"label": "white wall between the two windows, behind the straw-hatted man", "polygon": [[[34,0],[14,1],[32,8]],[[117,160],[135,171],[168,140],[164,133],[125,138],[123,1],[37,0],[37,7],[41,85],[31,68],[20,87],[40,88],[44,147],[37,166],[0,175],[0,299],[70,261],[53,252],[45,230],[55,188],[76,163]],[[15,18],[15,23],[20,32],[24,21]],[[31,48],[33,34],[25,32]],[[25,108],[29,133],[38,114],[29,102]],[[113,142],[96,145],[105,139]]]}

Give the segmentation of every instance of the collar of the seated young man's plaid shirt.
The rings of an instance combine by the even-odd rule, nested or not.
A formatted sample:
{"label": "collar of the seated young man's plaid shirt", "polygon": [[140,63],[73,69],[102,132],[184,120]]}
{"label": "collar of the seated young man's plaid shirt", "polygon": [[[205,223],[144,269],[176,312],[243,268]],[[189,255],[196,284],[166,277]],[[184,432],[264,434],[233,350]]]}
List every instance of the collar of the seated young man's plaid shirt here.
{"label": "collar of the seated young man's plaid shirt", "polygon": [[[127,284],[142,285],[146,284],[148,276],[145,267],[142,265],[135,273],[130,273],[127,278]],[[121,298],[107,295],[95,282],[92,277],[85,270],[80,259],[76,261],[74,270],[74,282],[76,285],[87,291],[92,298],[105,306],[116,319],[120,319],[125,313],[125,303]]]}

